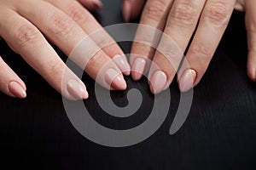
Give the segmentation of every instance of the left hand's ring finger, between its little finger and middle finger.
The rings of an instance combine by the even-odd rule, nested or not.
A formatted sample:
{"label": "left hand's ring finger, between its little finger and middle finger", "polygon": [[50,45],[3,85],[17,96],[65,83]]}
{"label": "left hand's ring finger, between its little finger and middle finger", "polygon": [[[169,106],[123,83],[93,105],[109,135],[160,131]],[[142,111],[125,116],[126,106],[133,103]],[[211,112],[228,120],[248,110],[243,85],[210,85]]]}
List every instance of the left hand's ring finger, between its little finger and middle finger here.
{"label": "left hand's ring finger, between its little finger and middle finger", "polygon": [[[66,69],[63,61],[35,26],[11,10],[4,12],[0,20],[5,23],[0,29],[2,37],[53,88],[67,99],[88,98],[84,83],[72,71]],[[63,81],[63,77],[67,82]]]}

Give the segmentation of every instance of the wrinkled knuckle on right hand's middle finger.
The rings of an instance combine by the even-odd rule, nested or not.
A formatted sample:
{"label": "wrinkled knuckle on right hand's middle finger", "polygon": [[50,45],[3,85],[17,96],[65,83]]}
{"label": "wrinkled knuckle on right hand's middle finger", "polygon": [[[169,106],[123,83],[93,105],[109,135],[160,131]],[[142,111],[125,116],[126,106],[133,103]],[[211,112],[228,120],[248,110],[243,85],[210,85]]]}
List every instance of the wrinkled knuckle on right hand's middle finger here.
{"label": "wrinkled knuckle on right hand's middle finger", "polygon": [[177,3],[170,11],[170,19],[177,24],[192,25],[195,20],[195,7],[190,3]]}

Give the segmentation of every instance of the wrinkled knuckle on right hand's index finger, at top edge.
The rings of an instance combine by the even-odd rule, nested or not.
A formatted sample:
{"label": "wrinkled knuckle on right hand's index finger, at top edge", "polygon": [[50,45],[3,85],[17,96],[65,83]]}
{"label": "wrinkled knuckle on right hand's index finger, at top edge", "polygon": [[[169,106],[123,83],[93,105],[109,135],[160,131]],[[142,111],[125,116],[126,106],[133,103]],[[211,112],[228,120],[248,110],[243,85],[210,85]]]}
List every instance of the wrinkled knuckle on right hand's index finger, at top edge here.
{"label": "wrinkled knuckle on right hand's index finger, at top edge", "polygon": [[160,20],[166,13],[167,5],[161,0],[151,1],[144,9],[144,13],[148,19]]}

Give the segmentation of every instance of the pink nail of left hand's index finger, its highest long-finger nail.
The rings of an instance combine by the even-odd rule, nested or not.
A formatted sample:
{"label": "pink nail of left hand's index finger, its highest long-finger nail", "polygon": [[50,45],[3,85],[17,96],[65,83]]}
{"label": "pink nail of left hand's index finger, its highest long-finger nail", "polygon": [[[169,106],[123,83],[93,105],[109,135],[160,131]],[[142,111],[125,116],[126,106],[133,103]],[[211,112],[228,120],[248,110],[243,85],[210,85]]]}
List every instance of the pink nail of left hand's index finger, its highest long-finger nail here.
{"label": "pink nail of left hand's index finger, its highest long-finger nail", "polygon": [[125,56],[115,55],[113,57],[113,61],[116,65],[118,65],[119,69],[125,74],[125,76],[129,76],[131,73],[131,66],[129,65]]}

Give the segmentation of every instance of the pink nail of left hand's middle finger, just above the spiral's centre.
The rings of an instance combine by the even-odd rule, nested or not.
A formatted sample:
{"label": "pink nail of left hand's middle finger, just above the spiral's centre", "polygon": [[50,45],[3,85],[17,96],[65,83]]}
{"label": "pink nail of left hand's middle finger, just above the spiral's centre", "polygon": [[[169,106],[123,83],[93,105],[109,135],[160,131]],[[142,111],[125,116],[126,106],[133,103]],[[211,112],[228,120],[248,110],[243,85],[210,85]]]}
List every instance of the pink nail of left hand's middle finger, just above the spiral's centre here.
{"label": "pink nail of left hand's middle finger, just above the spiral's centre", "polygon": [[105,78],[106,82],[115,90],[125,90],[127,88],[123,75],[114,69],[108,69]]}

